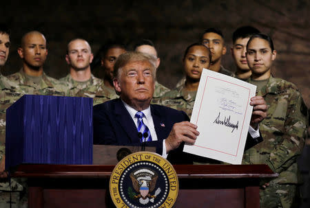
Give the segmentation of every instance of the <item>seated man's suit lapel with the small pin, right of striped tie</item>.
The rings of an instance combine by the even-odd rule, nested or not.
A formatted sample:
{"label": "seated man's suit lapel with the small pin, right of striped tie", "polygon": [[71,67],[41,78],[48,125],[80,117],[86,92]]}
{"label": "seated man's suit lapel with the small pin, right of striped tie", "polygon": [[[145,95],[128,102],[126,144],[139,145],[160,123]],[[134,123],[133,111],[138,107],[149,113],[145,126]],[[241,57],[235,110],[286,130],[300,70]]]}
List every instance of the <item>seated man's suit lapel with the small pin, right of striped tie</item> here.
{"label": "seated man's suit lapel with the small pin, right of striped tie", "polygon": [[153,117],[157,139],[158,140],[166,139],[169,133],[167,132],[167,128],[165,127],[165,120],[161,116],[161,113],[153,105],[151,105],[151,113]]}

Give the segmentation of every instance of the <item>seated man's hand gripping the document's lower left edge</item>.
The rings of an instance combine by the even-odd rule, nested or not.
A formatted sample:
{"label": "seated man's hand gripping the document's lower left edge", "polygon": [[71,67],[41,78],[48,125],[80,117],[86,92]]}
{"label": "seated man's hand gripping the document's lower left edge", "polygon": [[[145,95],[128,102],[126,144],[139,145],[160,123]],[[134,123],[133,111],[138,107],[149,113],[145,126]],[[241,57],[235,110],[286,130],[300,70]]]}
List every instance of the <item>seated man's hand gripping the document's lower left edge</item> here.
{"label": "seated man's hand gripping the document's lower left edge", "polygon": [[197,126],[190,122],[180,122],[174,124],[172,130],[165,140],[167,153],[180,146],[180,143],[194,144],[199,132]]}

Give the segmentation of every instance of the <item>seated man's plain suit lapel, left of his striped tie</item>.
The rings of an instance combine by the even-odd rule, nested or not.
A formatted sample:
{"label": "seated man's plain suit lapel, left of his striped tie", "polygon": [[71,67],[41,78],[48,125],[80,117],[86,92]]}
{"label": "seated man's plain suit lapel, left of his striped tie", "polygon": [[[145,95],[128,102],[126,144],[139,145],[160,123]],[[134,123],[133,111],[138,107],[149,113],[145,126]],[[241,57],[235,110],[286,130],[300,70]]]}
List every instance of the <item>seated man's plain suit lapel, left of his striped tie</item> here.
{"label": "seated man's plain suit lapel, left of his striped tie", "polygon": [[[127,137],[130,139],[131,143],[138,143],[140,140],[138,139],[138,130],[136,130],[136,125],[134,124],[134,120],[128,113],[121,99],[118,99],[118,102],[115,103],[115,115],[116,121],[118,124],[125,130],[127,133]],[[125,138],[119,138],[125,139]]]}

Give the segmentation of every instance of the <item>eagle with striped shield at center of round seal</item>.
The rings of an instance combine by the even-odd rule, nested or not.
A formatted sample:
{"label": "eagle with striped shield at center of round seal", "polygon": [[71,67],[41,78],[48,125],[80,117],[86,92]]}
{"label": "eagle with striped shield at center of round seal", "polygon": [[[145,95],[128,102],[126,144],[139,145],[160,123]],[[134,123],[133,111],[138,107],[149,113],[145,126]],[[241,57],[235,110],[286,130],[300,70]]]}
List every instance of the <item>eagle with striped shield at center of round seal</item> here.
{"label": "eagle with striped shield at center of round seal", "polygon": [[151,194],[156,187],[158,174],[143,168],[132,172],[130,178],[132,179],[134,190],[139,193],[134,195],[134,198],[138,199],[143,205],[149,203],[149,200],[154,203],[154,198],[161,192],[161,189],[158,188],[153,195]]}

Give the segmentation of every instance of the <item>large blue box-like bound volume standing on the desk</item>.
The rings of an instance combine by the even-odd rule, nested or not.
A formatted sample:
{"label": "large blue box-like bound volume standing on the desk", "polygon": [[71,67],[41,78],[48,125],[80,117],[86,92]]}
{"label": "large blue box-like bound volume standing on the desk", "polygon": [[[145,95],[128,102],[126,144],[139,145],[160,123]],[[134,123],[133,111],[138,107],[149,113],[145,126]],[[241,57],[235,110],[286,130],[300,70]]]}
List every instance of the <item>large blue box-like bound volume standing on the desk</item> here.
{"label": "large blue box-like bound volume standing on the desk", "polygon": [[23,95],[6,111],[6,170],[92,164],[92,98]]}

